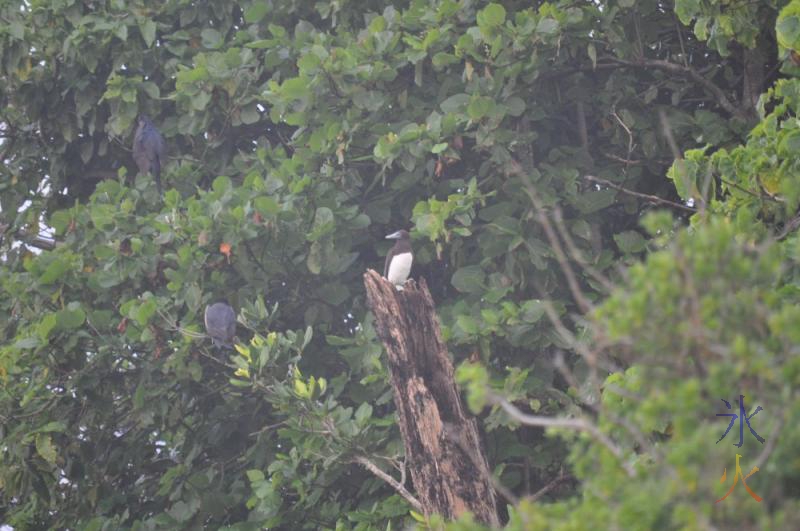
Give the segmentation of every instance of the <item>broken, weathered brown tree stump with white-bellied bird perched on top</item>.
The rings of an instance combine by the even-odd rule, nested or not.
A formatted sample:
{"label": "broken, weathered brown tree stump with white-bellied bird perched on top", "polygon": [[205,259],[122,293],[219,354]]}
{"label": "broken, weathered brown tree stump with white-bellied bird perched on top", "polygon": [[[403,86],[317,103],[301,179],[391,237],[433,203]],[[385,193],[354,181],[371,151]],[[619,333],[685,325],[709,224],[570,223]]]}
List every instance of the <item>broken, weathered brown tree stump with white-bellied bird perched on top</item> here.
{"label": "broken, weathered brown tree stump with white-bellied bird perched on top", "polygon": [[498,525],[477,424],[462,407],[425,279],[398,291],[369,270],[364,285],[388,353],[406,462],[423,511],[448,519],[470,511]]}

